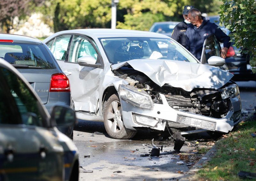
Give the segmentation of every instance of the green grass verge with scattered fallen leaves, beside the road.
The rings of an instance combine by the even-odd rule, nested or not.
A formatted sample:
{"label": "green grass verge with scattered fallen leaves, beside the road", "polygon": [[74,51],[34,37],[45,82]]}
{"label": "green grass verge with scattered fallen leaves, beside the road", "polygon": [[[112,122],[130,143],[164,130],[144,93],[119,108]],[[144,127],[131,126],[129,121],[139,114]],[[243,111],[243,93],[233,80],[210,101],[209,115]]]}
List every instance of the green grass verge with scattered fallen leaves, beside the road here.
{"label": "green grass verge with scattered fallen leaves, beside the road", "polygon": [[[193,177],[193,180],[242,180],[239,171],[256,173],[256,120],[242,121],[234,131],[216,142],[214,158]],[[253,180],[253,179],[243,179]]]}

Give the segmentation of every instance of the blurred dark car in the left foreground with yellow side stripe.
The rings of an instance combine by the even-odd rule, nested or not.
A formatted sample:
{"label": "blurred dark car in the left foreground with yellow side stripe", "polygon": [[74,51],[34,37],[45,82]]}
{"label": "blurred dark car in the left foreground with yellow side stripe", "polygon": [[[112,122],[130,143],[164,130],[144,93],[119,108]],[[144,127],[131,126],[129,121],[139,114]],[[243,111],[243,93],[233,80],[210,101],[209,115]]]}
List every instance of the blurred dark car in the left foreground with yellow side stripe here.
{"label": "blurred dark car in the left foreground with yellow side stripe", "polygon": [[0,58],[0,180],[77,180],[72,140],[55,126],[75,124],[74,110],[52,107],[51,116],[17,69]]}

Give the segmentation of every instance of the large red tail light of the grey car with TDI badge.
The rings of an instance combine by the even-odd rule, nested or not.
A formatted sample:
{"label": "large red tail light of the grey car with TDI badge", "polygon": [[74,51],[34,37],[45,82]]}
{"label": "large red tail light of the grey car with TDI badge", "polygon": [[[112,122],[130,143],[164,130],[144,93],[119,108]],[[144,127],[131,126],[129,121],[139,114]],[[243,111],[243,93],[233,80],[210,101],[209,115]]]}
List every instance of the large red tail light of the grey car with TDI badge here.
{"label": "large red tail light of the grey car with TDI badge", "polygon": [[70,92],[69,80],[65,74],[53,74],[50,84],[50,92]]}

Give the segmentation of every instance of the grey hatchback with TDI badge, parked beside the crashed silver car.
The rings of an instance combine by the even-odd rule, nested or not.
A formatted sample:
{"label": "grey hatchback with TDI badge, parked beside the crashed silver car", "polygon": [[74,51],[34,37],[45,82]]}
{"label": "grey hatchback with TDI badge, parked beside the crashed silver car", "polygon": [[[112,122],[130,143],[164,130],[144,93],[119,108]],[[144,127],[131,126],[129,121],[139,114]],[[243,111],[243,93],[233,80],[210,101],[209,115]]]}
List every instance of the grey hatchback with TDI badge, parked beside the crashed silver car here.
{"label": "grey hatchback with TDI badge, parked beside the crashed silver car", "polygon": [[[1,33],[0,57],[11,63],[28,80],[48,112],[56,103],[73,108],[68,77],[42,41]],[[73,127],[58,128],[73,138]]]}

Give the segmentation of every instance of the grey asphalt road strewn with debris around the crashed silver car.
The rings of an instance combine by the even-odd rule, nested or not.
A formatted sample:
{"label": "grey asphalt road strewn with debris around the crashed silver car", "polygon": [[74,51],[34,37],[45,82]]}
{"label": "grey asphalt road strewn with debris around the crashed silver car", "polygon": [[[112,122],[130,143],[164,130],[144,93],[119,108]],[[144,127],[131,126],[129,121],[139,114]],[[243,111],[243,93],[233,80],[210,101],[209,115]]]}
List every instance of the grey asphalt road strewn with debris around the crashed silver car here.
{"label": "grey asphalt road strewn with debris around the crashed silver car", "polygon": [[[256,106],[256,82],[237,83],[242,99],[241,119],[244,120]],[[163,140],[167,137],[168,133]],[[153,138],[156,146],[163,145],[159,157],[147,155],[152,150]],[[161,138],[156,133],[139,131],[132,140],[116,140],[108,137],[103,123],[79,120],[74,131],[81,166],[79,180],[178,180],[186,176],[190,164],[204,158],[201,152],[214,144],[207,134],[197,135],[189,137],[188,144],[177,153],[172,142]],[[177,164],[179,162],[184,164]]]}

